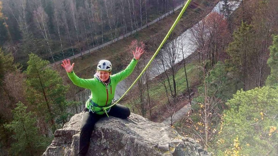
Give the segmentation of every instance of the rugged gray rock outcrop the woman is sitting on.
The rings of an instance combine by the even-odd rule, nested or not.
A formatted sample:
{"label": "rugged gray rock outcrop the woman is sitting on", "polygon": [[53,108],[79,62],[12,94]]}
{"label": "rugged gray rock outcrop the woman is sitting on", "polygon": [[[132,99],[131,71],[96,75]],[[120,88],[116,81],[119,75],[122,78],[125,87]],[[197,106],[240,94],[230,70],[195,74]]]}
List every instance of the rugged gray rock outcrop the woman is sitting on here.
{"label": "rugged gray rock outcrop the woman is sitting on", "polygon": [[[83,112],[75,114],[54,133],[52,144],[43,156],[76,156]],[[207,154],[191,138],[180,136],[162,123],[151,122],[131,113],[127,119],[104,117],[95,125],[87,155],[152,156]]]}

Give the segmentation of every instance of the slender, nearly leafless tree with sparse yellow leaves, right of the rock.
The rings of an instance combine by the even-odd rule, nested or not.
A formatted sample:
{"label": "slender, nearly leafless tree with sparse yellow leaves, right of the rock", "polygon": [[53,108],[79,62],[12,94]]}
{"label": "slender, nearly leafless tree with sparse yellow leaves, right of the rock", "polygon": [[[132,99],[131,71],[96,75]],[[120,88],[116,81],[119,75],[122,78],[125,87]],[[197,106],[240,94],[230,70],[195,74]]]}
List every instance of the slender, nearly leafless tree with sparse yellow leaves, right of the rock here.
{"label": "slender, nearly leafless tree with sparse yellow leaves, right of the rock", "polygon": [[[209,73],[215,68],[207,68],[209,60],[206,57],[206,52],[209,51],[206,44],[203,48],[197,49],[202,57],[198,68],[202,72],[202,86],[203,90],[196,99],[195,109],[193,112],[188,112],[188,116],[183,119],[182,127],[184,127],[186,134],[190,134],[191,137],[199,140],[208,150],[210,147],[210,141],[212,138],[217,137],[215,131],[220,123],[222,116],[219,106],[225,103],[225,100],[215,97],[217,90],[209,96],[210,86],[220,81],[221,77],[216,79],[209,79]],[[197,120],[196,120],[197,119]]]}

